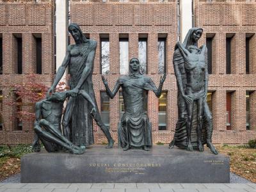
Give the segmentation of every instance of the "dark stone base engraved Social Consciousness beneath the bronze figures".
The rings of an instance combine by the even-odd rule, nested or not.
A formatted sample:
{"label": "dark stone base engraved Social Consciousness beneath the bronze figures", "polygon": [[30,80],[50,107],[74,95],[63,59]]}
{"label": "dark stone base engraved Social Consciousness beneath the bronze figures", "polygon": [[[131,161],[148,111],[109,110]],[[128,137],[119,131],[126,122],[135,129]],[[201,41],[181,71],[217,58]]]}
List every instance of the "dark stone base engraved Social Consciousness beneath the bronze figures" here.
{"label": "dark stone base engraved Social Consciousness beneath the bronze figures", "polygon": [[153,146],[149,152],[93,145],[82,155],[33,153],[21,158],[21,182],[230,182],[229,157]]}

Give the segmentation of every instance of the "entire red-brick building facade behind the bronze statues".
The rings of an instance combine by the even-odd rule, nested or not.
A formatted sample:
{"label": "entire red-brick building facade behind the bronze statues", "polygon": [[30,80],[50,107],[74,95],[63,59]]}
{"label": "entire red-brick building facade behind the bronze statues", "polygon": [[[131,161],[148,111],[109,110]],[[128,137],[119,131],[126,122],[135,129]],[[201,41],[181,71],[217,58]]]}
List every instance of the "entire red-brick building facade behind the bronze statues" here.
{"label": "entire red-brick building facade behind the bronze statues", "polygon": [[[250,39],[250,74],[246,74],[245,42],[246,34],[256,33],[255,1],[218,1],[195,0],[195,26],[204,28],[200,45],[205,44],[206,37],[212,38],[212,74],[209,75],[209,90],[212,92],[213,141],[214,143],[246,143],[256,138],[256,65],[255,35]],[[20,7],[20,8],[17,8]],[[166,131],[158,130],[158,98],[153,92],[148,94],[148,116],[152,122],[153,143],[169,143],[177,122],[177,84],[172,64],[173,47],[179,37],[178,9],[176,0],[142,3],[138,0],[122,3],[109,0],[70,0],[70,20],[81,26],[83,33],[97,40],[97,52],[94,60],[93,85],[97,104],[100,106],[100,91],[104,84],[100,74],[100,36],[109,36],[110,74],[106,75],[112,89],[120,73],[119,37],[129,36],[129,58],[138,57],[138,38],[147,35],[147,75],[158,86],[157,41],[159,35],[166,37],[166,81],[163,90],[167,91]],[[52,82],[53,74],[53,10],[51,1],[0,1],[0,34],[3,34],[4,72],[0,75],[0,89],[7,94],[4,82],[22,82],[26,74],[35,72],[34,33],[42,34],[42,75],[38,81],[47,85]],[[1,17],[3,15],[3,17]],[[17,19],[19,19],[17,21]],[[22,34],[23,74],[15,74],[15,61],[12,50],[15,49],[15,34]],[[233,34],[231,42],[231,74],[226,74],[226,37]],[[52,40],[52,41],[51,41]],[[71,42],[74,41],[71,38]],[[15,52],[13,52],[16,54]],[[7,64],[8,63],[8,64]],[[250,94],[250,131],[246,130],[246,91]],[[226,95],[231,92],[232,124],[227,131]],[[4,100],[4,103],[7,102]],[[109,127],[117,141],[117,124],[119,121],[119,95],[110,100]],[[31,123],[22,131],[13,131],[10,107],[3,108],[4,120],[7,122],[8,137],[12,143],[29,143],[33,138]],[[102,131],[93,123],[95,143],[106,142]],[[0,134],[0,143],[6,138]]]}

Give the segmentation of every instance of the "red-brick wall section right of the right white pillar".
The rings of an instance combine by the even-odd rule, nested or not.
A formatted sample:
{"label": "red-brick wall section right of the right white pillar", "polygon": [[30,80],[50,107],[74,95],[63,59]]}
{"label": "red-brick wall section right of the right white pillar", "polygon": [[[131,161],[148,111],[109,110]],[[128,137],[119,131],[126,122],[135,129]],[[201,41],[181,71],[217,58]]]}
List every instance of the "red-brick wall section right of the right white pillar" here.
{"label": "red-brick wall section right of the right white pillar", "polygon": [[[204,33],[215,34],[212,43],[212,74],[209,90],[212,95],[214,143],[246,143],[256,138],[255,131],[255,35],[250,40],[250,74],[246,74],[246,33],[254,34],[255,1],[195,0],[195,26]],[[234,34],[231,42],[231,74],[226,74],[226,36]],[[204,42],[204,38],[200,40]],[[226,93],[231,93],[231,130],[226,126]],[[246,91],[250,95],[250,131],[246,131]]]}

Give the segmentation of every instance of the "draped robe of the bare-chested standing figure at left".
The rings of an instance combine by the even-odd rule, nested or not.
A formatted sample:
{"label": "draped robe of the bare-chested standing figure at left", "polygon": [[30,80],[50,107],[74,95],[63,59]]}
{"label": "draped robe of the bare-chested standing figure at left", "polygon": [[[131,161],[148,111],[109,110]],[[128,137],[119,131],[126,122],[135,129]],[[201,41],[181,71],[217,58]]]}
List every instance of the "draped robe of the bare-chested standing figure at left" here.
{"label": "draped robe of the bare-chested standing figure at left", "polygon": [[[77,83],[81,79],[83,70],[86,67],[88,54],[97,47],[97,42],[95,42],[95,40],[88,40],[85,44],[86,45],[84,45],[80,53],[81,57],[71,56],[70,58],[69,70],[71,90],[76,88]],[[86,91],[97,105],[92,84],[92,72],[93,68],[88,77],[84,80],[80,90]],[[70,97],[68,100],[64,116],[70,122],[71,141],[74,145],[86,146],[94,143],[92,116],[90,116],[91,109],[92,106],[82,95]]]}

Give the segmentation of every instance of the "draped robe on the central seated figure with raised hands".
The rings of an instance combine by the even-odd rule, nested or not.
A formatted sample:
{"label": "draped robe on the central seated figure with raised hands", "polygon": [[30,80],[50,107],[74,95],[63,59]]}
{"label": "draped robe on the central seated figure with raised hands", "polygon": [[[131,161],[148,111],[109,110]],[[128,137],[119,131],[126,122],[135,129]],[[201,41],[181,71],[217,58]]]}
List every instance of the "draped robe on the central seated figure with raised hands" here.
{"label": "draped robe on the central seated figure with raised hands", "polygon": [[157,90],[150,77],[124,76],[118,79],[122,86],[125,113],[118,125],[118,144],[123,148],[152,146],[152,128],[147,115],[148,90]]}

